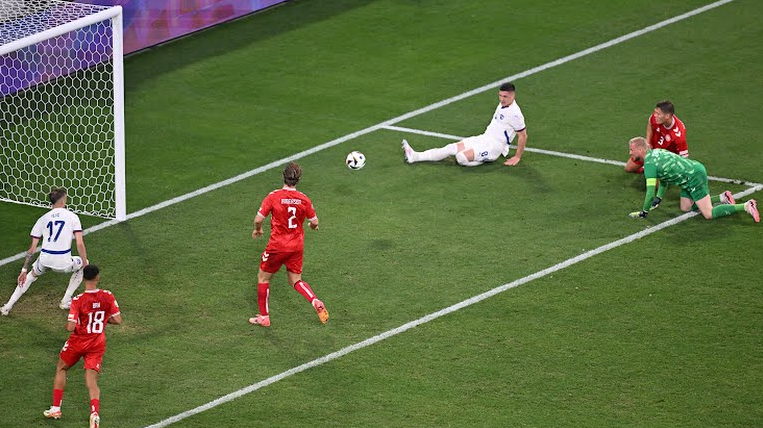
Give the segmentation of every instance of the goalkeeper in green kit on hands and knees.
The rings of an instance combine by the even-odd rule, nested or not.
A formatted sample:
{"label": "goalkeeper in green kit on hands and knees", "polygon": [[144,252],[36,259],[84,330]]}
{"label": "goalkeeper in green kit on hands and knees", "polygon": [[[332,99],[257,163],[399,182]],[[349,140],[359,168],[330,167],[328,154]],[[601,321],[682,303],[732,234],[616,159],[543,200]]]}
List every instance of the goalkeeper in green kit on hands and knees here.
{"label": "goalkeeper in green kit on hands and knees", "polygon": [[[699,209],[708,219],[727,216],[746,211],[756,223],[760,222],[758,204],[750,199],[744,204],[737,204],[734,196],[726,190],[717,196],[710,196],[707,187],[707,171],[701,163],[683,158],[663,149],[650,149],[643,137],[632,138],[629,141],[631,156],[636,161],[644,162],[644,178],[646,178],[646,197],[641,211],[632,212],[633,218],[644,218],[649,211],[657,208],[662,201],[655,196],[658,182],[676,185],[681,188],[681,211]],[[721,205],[713,206],[720,202]]]}

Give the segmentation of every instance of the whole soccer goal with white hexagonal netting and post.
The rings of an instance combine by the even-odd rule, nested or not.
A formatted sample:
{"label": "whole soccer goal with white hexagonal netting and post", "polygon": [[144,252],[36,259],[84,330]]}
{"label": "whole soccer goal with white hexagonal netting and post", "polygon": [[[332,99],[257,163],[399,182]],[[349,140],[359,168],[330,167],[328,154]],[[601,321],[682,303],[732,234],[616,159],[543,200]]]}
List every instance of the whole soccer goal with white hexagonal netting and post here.
{"label": "whole soccer goal with white hexagonal netting and post", "polygon": [[0,200],[125,219],[122,8],[0,0]]}

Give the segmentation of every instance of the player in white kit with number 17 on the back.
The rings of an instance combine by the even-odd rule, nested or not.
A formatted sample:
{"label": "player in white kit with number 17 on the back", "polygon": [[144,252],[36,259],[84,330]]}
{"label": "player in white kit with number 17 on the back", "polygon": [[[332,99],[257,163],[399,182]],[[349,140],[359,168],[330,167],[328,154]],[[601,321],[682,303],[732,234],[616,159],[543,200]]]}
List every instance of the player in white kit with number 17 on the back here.
{"label": "player in white kit with number 17 on the back", "polygon": [[[87,251],[85,241],[82,239],[82,223],[77,214],[66,209],[66,189],[53,189],[48,198],[53,204],[53,209],[40,217],[32,228],[32,245],[27,251],[16,290],[8,302],[0,308],[2,315],[8,315],[16,301],[26,293],[40,275],[48,270],[72,274],[69,287],[59,304],[61,309],[69,309],[72,295],[82,283],[82,268],[87,265]],[[72,239],[77,242],[79,256],[72,256]],[[32,271],[27,274],[29,262],[40,241],[42,241],[40,256],[32,265]]]}

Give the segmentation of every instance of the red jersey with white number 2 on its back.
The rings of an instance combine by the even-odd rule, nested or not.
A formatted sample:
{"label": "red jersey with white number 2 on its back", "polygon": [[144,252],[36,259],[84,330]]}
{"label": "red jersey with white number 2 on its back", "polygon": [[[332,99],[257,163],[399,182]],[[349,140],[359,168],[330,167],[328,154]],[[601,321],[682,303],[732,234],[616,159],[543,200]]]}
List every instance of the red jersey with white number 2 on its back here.
{"label": "red jersey with white number 2 on its back", "polygon": [[270,217],[270,241],[266,251],[302,251],[305,246],[305,219],[316,217],[310,198],[295,188],[274,190],[262,201],[257,213]]}

